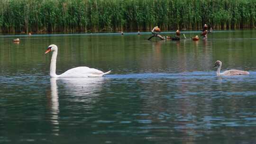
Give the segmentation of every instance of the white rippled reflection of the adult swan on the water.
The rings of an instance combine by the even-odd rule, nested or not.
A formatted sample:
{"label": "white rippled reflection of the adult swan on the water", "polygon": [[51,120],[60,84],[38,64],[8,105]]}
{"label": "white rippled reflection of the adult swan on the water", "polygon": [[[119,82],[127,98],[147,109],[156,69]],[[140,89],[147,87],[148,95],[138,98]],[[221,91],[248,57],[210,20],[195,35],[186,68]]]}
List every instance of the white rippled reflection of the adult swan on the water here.
{"label": "white rippled reflection of the adult swan on the water", "polygon": [[[50,109],[50,122],[53,125],[53,134],[59,135],[59,92],[72,95],[74,99],[67,98],[68,100],[83,102],[83,103],[93,103],[96,102],[97,96],[99,95],[99,90],[102,88],[102,83],[106,80],[104,77],[97,78],[51,78],[51,92],[48,98],[48,105]],[[61,87],[58,91],[57,82]],[[85,104],[86,105],[86,104]],[[84,106],[86,107],[86,106]]]}

